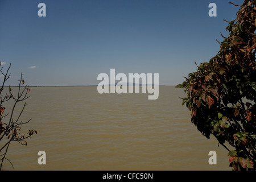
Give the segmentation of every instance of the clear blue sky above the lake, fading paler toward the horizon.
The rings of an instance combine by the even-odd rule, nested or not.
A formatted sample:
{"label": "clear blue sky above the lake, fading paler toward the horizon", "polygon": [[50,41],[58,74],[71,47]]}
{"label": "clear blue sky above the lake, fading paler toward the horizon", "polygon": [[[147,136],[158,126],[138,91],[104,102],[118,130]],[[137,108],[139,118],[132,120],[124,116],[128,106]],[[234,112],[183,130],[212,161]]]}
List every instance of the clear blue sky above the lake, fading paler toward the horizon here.
{"label": "clear blue sky above the lake, fading paler toward the horizon", "polygon": [[[7,84],[94,85],[100,73],[159,73],[177,85],[220,50],[226,0],[0,0],[0,61]],[[242,5],[242,0],[233,0]],[[38,16],[45,3],[46,16]],[[208,7],[216,3],[217,16]],[[3,79],[3,77],[0,77]]]}

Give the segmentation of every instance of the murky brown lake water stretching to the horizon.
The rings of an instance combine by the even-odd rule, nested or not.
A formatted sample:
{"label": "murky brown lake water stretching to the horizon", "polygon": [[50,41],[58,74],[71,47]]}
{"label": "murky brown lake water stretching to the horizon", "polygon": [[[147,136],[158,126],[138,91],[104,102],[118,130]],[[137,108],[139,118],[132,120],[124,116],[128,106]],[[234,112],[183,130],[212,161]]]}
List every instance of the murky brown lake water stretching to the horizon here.
{"label": "murky brown lake water stretching to the horizon", "polygon": [[[99,94],[96,86],[31,88],[22,126],[38,134],[9,147],[4,170],[231,170],[228,151],[207,139],[182,106],[184,89],[148,94]],[[18,108],[17,108],[18,109]],[[6,106],[5,113],[10,111]],[[17,110],[18,111],[18,110]],[[38,152],[46,152],[46,165]],[[217,152],[210,165],[209,151]]]}

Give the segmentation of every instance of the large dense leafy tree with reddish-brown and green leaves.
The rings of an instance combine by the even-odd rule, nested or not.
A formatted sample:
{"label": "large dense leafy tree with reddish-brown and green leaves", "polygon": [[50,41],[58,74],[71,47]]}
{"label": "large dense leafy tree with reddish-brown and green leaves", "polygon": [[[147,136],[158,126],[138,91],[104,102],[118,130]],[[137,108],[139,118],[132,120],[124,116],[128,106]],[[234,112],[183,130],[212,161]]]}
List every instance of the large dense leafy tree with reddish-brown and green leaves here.
{"label": "large dense leafy tree with reddish-brown and green leaves", "polygon": [[226,21],[228,38],[221,34],[217,55],[186,78],[183,98],[197,129],[229,151],[233,170],[256,169],[255,5],[255,0],[245,0],[237,18]]}

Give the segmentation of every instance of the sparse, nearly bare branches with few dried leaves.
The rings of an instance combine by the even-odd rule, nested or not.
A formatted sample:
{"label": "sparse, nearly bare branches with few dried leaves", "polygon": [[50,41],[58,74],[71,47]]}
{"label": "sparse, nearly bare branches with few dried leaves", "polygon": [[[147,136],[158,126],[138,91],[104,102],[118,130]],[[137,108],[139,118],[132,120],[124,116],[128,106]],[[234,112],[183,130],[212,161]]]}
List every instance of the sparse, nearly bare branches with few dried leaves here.
{"label": "sparse, nearly bare branches with few dried leaves", "polygon": [[[1,62],[0,62],[1,67]],[[26,107],[26,103],[23,104],[22,110],[16,111],[15,108],[18,104],[22,103],[23,101],[27,100],[28,93],[30,92],[30,89],[28,86],[24,85],[24,80],[22,78],[22,74],[20,76],[19,80],[19,86],[18,86],[18,92],[14,93],[12,89],[9,87],[6,87],[6,81],[10,78],[9,70],[10,70],[11,64],[9,68],[7,69],[6,73],[2,72],[3,67],[0,68],[1,71],[1,81],[2,85],[0,86],[0,170],[3,166],[3,161],[7,160],[10,162],[9,159],[6,158],[7,151],[9,149],[11,142],[18,142],[22,145],[27,145],[27,142],[25,139],[28,137],[31,137],[34,133],[37,133],[35,130],[29,130],[27,135],[21,134],[21,127],[22,125],[30,122],[31,119],[29,119],[26,122],[20,121],[20,116],[22,115],[24,108]],[[5,93],[3,90],[8,89]],[[11,100],[14,101],[13,106],[11,107],[11,113],[6,114],[5,110],[6,107],[4,106],[6,102],[10,102]],[[18,117],[14,117],[14,113],[18,113]],[[7,116],[9,117],[7,119]],[[11,163],[11,162],[10,162]],[[13,166],[13,164],[11,163]]]}

